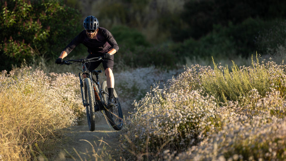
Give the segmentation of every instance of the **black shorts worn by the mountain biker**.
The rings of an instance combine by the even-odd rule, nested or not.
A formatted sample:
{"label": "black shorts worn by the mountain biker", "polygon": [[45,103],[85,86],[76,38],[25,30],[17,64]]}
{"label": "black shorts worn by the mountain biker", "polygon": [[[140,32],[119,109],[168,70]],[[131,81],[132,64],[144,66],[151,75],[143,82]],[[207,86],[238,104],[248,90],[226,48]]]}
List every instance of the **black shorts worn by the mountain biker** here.
{"label": "black shorts worn by the mountain biker", "polygon": [[[86,58],[90,59],[94,57],[98,57],[98,55],[89,54]],[[93,71],[100,65],[100,63],[102,63],[104,70],[110,68],[113,71],[114,55],[111,55],[108,60],[100,60],[100,61],[86,63],[86,67],[88,68],[89,71]]]}

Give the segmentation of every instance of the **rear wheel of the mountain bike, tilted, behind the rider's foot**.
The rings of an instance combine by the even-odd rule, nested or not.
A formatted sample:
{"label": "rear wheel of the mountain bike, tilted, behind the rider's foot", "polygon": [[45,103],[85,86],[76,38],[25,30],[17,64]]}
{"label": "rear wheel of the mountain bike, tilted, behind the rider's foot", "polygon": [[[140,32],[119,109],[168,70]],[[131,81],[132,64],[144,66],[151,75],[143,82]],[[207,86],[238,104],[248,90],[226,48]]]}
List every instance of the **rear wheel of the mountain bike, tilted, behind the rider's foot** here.
{"label": "rear wheel of the mountain bike, tilted, behind the rider's foot", "polygon": [[[108,88],[107,88],[106,81],[102,82],[101,89],[103,90],[103,92],[102,92],[103,101],[107,104],[107,102],[108,102]],[[108,118],[108,121],[109,121],[110,125],[113,127],[113,129],[121,130],[123,127],[123,116],[122,116],[122,110],[121,110],[119,98],[118,98],[118,95],[117,95],[115,89],[114,89],[113,95],[114,95],[115,107],[113,107],[112,109],[105,108],[104,111],[105,111],[105,114]]]}

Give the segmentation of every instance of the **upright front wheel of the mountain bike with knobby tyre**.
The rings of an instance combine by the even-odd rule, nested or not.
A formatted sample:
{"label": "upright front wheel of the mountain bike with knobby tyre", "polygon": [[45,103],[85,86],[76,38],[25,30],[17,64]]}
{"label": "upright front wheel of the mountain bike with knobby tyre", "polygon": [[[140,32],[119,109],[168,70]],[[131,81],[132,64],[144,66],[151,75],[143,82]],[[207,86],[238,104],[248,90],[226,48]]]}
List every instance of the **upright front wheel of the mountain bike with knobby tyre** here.
{"label": "upright front wheel of the mountain bike with knobby tyre", "polygon": [[89,78],[83,79],[84,82],[84,96],[86,103],[86,117],[88,128],[90,131],[95,129],[95,116],[94,116],[94,90],[92,88],[92,83]]}

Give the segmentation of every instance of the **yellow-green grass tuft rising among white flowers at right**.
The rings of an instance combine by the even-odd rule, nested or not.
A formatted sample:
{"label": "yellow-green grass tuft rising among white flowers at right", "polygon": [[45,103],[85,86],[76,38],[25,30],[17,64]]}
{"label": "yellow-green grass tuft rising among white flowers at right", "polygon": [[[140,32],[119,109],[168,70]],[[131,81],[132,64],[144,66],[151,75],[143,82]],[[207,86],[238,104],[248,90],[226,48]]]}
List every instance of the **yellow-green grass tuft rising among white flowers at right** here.
{"label": "yellow-green grass tuft rising among white flowers at right", "polygon": [[271,83],[274,83],[273,80],[271,81],[272,73],[268,71],[269,68],[271,68],[271,64],[265,65],[264,61],[259,64],[259,58],[256,62],[251,59],[251,66],[248,67],[238,67],[233,62],[231,72],[228,66],[217,67],[214,63],[214,73],[211,74],[215,76],[202,75],[202,86],[207,93],[224,102],[238,100],[239,97],[245,96],[251,89],[257,89],[259,93],[264,94],[269,91]]}

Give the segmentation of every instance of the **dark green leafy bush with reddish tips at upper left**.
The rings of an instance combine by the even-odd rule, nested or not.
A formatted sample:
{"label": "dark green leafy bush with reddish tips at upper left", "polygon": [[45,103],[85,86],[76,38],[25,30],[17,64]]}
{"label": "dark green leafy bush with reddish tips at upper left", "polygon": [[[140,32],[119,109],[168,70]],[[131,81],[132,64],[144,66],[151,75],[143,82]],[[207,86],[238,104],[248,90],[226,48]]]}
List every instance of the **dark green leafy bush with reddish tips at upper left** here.
{"label": "dark green leafy bush with reddish tips at upper left", "polygon": [[77,32],[79,12],[57,0],[0,1],[1,69],[25,58],[58,56]]}

